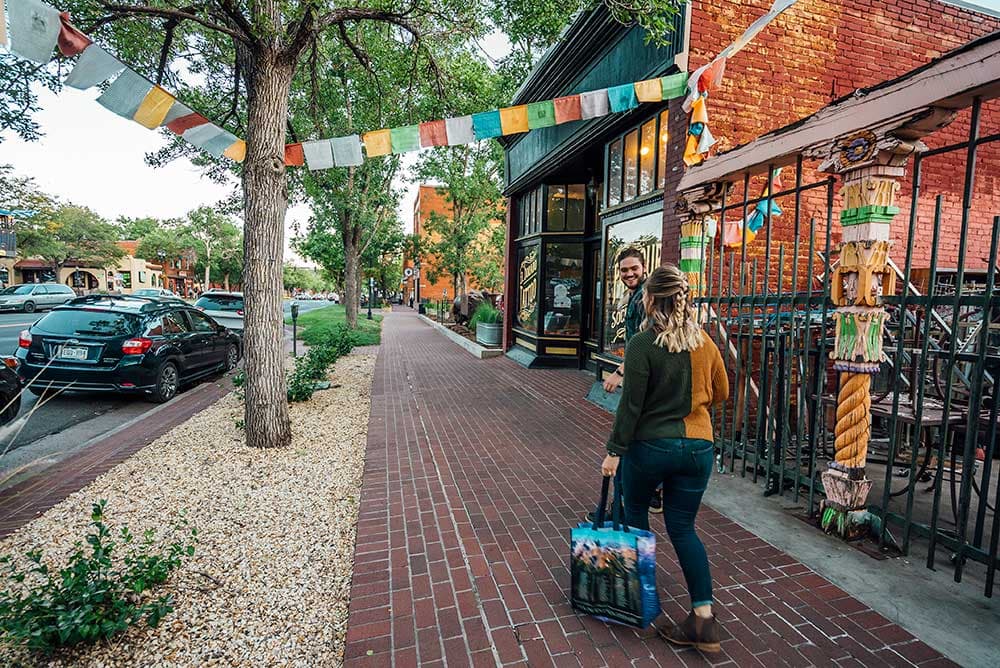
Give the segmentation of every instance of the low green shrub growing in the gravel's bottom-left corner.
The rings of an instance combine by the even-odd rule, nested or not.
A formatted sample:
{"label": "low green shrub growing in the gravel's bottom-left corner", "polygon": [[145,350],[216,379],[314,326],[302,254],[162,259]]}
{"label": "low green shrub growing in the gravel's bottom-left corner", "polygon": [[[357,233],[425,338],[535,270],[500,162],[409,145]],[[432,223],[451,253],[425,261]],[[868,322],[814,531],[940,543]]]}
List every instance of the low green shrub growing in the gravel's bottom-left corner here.
{"label": "low green shrub growing in the gravel's bottom-left corner", "polygon": [[152,530],[138,541],[126,526],[113,535],[104,523],[106,505],[103,499],[93,505],[87,548],[78,542],[65,568],[51,570],[40,551],[26,555],[26,569],[10,556],[0,558],[7,571],[7,589],[0,592],[5,642],[51,653],[108,640],[143,619],[156,626],[173,609],[170,596],[147,592],[194,555],[197,529],[188,529],[182,516],[172,530],[185,536],[166,547],[157,546]]}

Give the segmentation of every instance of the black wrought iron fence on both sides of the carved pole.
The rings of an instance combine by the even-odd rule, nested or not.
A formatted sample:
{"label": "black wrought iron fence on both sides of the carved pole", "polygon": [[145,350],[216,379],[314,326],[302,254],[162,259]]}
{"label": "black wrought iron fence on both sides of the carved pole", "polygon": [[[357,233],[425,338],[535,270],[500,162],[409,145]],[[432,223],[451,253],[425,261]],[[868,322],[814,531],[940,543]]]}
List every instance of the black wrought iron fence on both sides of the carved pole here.
{"label": "black wrought iron fence on both sides of the carved pole", "polygon": [[[950,559],[956,581],[975,563],[985,595],[992,596],[1000,539],[1000,295],[994,289],[1000,216],[992,225],[981,221],[984,213],[1000,211],[974,212],[973,204],[977,154],[989,145],[1000,148],[1000,134],[980,136],[982,107],[976,99],[969,110],[968,139],[919,154],[911,164],[908,219],[901,213],[894,223],[900,229],[892,256],[903,268],[892,265],[897,290],[884,297],[887,359],[872,382],[868,476],[875,482],[869,511],[878,518],[879,547],[909,554],[919,540],[927,567]],[[964,181],[954,179],[947,193],[923,178],[929,161],[942,157],[964,166]],[[835,186],[802,156],[791,187],[782,189],[772,170],[766,178],[735,179],[724,193],[718,236],[762,207],[764,239],[735,249],[709,244],[698,299],[732,381],[730,400],[714,415],[717,465],[763,485],[767,495],[802,502],[810,516],[823,494],[820,472],[833,458],[837,407],[838,373],[829,359]],[[772,201],[785,209],[780,226]],[[949,202],[954,211],[946,210]],[[942,235],[956,221],[957,253],[949,255],[955,265],[939,266],[940,249],[952,241]],[[970,235],[983,230],[988,255],[973,248],[985,238]]]}

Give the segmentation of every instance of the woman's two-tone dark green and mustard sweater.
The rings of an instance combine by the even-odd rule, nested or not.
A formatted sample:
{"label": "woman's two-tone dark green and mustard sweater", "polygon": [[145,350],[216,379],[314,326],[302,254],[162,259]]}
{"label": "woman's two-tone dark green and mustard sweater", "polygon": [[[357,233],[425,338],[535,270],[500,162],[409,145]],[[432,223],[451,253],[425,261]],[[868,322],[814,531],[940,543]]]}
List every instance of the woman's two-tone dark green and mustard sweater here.
{"label": "woman's two-tone dark green and mustard sweater", "polygon": [[625,381],[608,439],[608,453],[623,455],[633,441],[713,439],[708,409],[729,397],[729,378],[715,342],[702,332],[697,349],[668,352],[647,329],[625,348]]}

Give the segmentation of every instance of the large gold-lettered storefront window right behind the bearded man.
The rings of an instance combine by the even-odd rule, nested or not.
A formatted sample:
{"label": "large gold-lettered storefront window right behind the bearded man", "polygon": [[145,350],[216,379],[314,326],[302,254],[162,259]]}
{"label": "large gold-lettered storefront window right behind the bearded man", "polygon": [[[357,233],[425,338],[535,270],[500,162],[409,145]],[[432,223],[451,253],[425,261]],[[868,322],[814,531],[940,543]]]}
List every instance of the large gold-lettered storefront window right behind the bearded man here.
{"label": "large gold-lettered storefront window right behind the bearded man", "polygon": [[660,264],[663,214],[652,213],[635,220],[626,220],[608,227],[605,249],[605,323],[604,350],[619,357],[625,354],[625,309],[628,292],[618,277],[618,254],[632,246],[642,251],[646,270]]}

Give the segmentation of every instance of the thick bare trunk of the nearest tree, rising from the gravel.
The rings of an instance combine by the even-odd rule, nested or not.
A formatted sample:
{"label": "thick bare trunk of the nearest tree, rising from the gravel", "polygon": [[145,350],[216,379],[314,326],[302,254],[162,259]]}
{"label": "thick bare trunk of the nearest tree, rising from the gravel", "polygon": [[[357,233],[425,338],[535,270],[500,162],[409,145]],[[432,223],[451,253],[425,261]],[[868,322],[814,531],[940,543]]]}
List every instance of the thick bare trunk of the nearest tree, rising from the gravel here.
{"label": "thick bare trunk of the nearest tree, rising from the gravel", "polygon": [[260,47],[248,70],[247,155],[243,163],[243,297],[246,304],[246,434],[251,447],[291,443],[285,389],[282,257],[285,124],[292,67]]}

